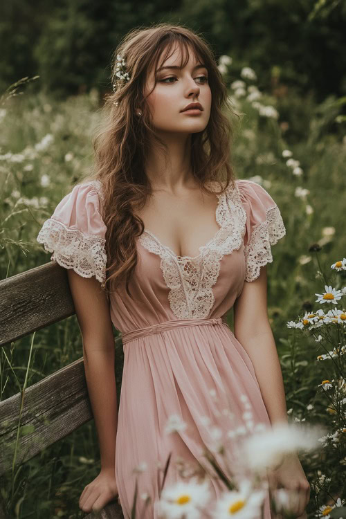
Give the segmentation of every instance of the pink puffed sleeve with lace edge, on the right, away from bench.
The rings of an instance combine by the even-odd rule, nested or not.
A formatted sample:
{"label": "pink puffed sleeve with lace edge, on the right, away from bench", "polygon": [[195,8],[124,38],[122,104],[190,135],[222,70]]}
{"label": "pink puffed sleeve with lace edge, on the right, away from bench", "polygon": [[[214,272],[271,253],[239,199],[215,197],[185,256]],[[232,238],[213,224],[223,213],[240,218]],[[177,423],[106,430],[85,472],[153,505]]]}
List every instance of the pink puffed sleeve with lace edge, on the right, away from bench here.
{"label": "pink puffed sleeve with lace edge, on the right, away from bench", "polygon": [[280,209],[262,185],[250,180],[237,180],[240,199],[246,210],[244,255],[246,281],[260,275],[261,266],[273,262],[271,246],[286,234]]}

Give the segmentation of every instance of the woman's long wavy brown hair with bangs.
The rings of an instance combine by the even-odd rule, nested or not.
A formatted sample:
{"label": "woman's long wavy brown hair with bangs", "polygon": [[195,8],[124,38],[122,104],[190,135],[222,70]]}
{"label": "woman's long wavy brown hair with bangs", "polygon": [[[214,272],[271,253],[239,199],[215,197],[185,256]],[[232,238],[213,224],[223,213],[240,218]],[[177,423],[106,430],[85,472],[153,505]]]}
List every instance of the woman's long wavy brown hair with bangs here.
{"label": "woman's long wavy brown hair with bangs", "polygon": [[[234,114],[228,92],[217,67],[212,49],[201,35],[189,28],[167,23],[147,28],[134,28],[117,46],[111,59],[111,81],[116,83],[113,93],[105,96],[100,125],[95,130],[93,170],[89,180],[98,180],[102,190],[102,218],[107,226],[107,280],[102,284],[108,294],[111,288],[129,280],[137,264],[136,238],[145,225],[136,210],[145,206],[152,195],[152,186],[145,174],[145,164],[152,139],[165,154],[165,143],[155,134],[152,117],[145,100],[149,71],[158,61],[163,64],[178,46],[184,67],[189,52],[201,60],[208,70],[208,84],[212,94],[210,118],[203,131],[191,135],[191,169],[199,188],[212,191],[208,183],[217,181],[219,193],[228,185],[234,186],[235,177],[230,163],[230,142]],[[171,53],[171,54],[170,54]],[[116,75],[117,56],[126,62],[129,80]],[[156,74],[154,87],[156,85]],[[154,89],[153,87],[153,89]],[[228,109],[228,115],[223,113]],[[140,109],[142,116],[136,115]],[[237,114],[235,114],[237,115]]]}

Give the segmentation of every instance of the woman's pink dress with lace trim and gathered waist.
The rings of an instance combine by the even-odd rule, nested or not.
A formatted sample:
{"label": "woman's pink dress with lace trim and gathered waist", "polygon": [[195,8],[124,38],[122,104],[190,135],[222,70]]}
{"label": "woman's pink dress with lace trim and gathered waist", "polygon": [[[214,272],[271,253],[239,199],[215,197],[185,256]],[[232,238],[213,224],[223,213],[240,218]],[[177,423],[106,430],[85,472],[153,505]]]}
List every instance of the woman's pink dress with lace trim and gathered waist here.
{"label": "woman's pink dress with lace trim and gathered waist", "polygon": [[[129,285],[134,300],[125,291],[111,295],[111,320],[122,333],[124,348],[115,467],[126,519],[136,478],[136,518],[158,517],[158,468],[165,466],[170,453],[165,487],[179,480],[179,457],[191,467],[198,460],[210,468],[202,455],[203,446],[215,445],[208,419],[223,438],[232,424],[244,433],[247,400],[253,413],[247,424],[270,424],[251,359],[226,317],[244,281],[255,280],[260,267],[273,261],[271,246],[286,231],[277,204],[253,181],[237,180],[235,189],[229,186],[217,197],[219,230],[198,256],[178,257],[145,230],[137,239],[138,264]],[[100,182],[75,185],[37,236],[46,251],[53,252],[51,260],[83,277],[95,275],[100,282],[107,262],[101,203]],[[233,413],[232,420],[226,409]],[[167,434],[172,415],[185,428]],[[229,466],[237,466],[236,450],[234,437],[228,440],[233,464],[223,465],[224,458],[217,457],[228,475]],[[136,467],[145,470],[134,472]],[[226,489],[214,477],[210,487],[214,498]],[[145,493],[152,500],[144,511]],[[271,518],[268,495],[264,518]]]}

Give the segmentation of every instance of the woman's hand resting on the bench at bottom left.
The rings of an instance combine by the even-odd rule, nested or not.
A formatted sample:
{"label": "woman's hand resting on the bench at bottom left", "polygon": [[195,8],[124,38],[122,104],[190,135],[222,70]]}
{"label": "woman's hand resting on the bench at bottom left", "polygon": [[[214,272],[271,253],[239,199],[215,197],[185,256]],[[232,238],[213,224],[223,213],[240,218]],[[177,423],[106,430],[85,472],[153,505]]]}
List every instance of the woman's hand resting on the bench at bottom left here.
{"label": "woman's hand resting on the bench at bottom left", "polygon": [[118,487],[114,468],[101,469],[95,480],[84,487],[80,495],[80,509],[84,512],[100,511],[116,495],[118,495]]}

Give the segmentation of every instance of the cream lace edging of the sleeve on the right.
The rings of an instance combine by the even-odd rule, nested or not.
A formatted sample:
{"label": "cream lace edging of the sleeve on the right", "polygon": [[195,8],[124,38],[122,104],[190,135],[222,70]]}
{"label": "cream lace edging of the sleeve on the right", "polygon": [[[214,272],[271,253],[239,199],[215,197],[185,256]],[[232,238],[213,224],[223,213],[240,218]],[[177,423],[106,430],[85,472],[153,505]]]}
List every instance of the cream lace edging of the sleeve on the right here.
{"label": "cream lace edging of the sleeve on the right", "polygon": [[286,235],[280,209],[275,206],[266,210],[266,219],[253,230],[244,248],[246,259],[245,280],[254,281],[260,275],[261,266],[273,262],[271,246]]}

